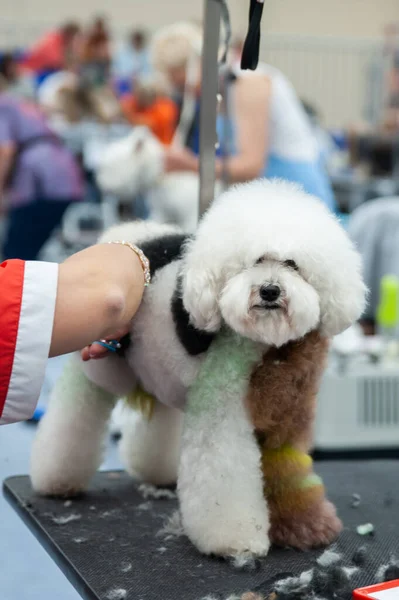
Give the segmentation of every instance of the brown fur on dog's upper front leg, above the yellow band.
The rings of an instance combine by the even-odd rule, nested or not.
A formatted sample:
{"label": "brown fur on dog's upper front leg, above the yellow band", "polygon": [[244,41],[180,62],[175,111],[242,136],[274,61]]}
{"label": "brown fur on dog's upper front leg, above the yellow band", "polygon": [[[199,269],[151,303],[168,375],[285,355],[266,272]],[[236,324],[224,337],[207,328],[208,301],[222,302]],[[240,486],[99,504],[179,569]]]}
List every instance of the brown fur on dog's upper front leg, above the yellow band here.
{"label": "brown fur on dog's upper front leg, above the yellow band", "polygon": [[308,450],[328,345],[312,331],[301,340],[271,348],[253,372],[247,406],[263,447],[299,443]]}

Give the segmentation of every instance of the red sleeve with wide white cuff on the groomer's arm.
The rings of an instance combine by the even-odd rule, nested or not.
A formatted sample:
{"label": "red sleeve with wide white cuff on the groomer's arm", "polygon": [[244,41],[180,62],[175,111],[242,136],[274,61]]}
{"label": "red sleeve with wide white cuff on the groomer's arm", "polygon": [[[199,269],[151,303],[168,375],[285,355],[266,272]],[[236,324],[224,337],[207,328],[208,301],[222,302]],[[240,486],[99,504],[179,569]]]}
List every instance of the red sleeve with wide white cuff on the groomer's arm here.
{"label": "red sleeve with wide white cuff on the groomer's arm", "polygon": [[0,264],[0,425],[34,413],[51,343],[58,265]]}

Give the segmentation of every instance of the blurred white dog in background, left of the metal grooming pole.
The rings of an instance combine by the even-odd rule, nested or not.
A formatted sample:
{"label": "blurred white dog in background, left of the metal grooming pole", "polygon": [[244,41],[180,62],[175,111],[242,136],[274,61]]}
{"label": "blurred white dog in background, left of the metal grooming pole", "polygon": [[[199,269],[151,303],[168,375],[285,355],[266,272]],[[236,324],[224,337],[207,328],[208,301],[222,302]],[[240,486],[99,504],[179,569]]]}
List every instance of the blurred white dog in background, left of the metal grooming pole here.
{"label": "blurred white dog in background, left of the metal grooming pole", "polygon": [[[150,218],[158,223],[176,224],[194,232],[198,223],[199,178],[197,173],[164,174],[162,144],[146,127],[112,142],[105,149],[96,179],[105,194],[131,202],[145,194]],[[221,191],[220,182],[215,192]]]}

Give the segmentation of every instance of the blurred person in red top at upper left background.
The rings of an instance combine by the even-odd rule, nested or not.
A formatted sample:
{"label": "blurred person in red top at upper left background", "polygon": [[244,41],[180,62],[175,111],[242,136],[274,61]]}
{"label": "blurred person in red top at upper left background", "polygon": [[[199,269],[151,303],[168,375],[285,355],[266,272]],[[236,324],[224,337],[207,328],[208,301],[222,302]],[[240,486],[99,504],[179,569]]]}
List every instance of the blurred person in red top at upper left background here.
{"label": "blurred person in red top at upper left background", "polygon": [[79,54],[82,41],[80,25],[74,21],[50,31],[28,52],[23,67],[34,71],[39,79],[65,68],[71,56]]}

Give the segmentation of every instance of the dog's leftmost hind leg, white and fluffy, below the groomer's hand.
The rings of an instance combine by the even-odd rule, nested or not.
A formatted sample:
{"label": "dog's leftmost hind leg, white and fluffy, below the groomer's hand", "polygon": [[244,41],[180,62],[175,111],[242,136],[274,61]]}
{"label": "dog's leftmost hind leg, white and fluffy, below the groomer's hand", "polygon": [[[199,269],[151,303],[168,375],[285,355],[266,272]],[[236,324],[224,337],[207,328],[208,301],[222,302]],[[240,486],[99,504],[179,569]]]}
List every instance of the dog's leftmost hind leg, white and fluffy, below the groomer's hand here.
{"label": "dog's leftmost hind leg, white and fluffy, below the groomer's hand", "polygon": [[[103,368],[106,367],[107,358]],[[115,397],[93,384],[72,357],[57,381],[39,424],[31,455],[33,488],[46,495],[75,495],[100,466]]]}

